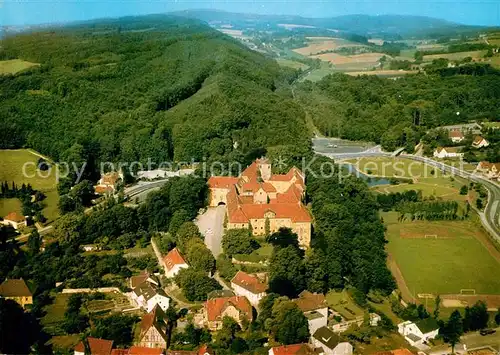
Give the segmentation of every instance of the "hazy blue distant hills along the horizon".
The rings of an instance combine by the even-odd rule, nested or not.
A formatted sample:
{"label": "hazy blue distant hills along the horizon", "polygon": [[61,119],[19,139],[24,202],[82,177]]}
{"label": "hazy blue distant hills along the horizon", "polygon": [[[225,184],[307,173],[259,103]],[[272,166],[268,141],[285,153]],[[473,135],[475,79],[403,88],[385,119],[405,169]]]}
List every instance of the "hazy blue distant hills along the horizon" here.
{"label": "hazy blue distant hills along the horizon", "polygon": [[186,10],[177,16],[196,18],[209,23],[223,22],[237,28],[273,28],[280,24],[312,26],[325,30],[340,30],[363,36],[427,37],[476,32],[481,26],[468,26],[425,16],[408,15],[346,15],[329,18],[274,16],[231,13],[218,10]]}

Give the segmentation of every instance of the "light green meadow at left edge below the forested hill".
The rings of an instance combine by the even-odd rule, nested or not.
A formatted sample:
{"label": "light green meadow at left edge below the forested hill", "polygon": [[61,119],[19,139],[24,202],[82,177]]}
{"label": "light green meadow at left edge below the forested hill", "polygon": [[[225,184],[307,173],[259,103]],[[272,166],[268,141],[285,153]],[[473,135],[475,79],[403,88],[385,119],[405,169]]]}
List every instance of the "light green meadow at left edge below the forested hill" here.
{"label": "light green meadow at left edge below the forested hill", "polygon": [[35,190],[42,191],[47,196],[44,200],[46,207],[43,209],[43,215],[52,221],[58,216],[56,168],[51,165],[49,171],[38,170],[36,165],[39,158],[28,149],[0,150],[0,181],[7,181],[9,185],[15,181],[17,186],[31,184]]}

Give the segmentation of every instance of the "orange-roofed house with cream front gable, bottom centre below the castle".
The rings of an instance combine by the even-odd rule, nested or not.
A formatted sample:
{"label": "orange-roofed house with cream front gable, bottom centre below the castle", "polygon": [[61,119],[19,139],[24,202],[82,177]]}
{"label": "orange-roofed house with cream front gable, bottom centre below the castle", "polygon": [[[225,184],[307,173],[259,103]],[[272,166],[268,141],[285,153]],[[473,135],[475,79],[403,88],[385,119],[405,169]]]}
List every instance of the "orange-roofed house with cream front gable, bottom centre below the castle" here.
{"label": "orange-roofed house with cream front gable, bottom centre below the castle", "polygon": [[205,302],[203,316],[208,328],[215,331],[222,327],[222,319],[224,317],[231,317],[240,325],[244,319],[252,322],[253,309],[246,297],[220,297]]}

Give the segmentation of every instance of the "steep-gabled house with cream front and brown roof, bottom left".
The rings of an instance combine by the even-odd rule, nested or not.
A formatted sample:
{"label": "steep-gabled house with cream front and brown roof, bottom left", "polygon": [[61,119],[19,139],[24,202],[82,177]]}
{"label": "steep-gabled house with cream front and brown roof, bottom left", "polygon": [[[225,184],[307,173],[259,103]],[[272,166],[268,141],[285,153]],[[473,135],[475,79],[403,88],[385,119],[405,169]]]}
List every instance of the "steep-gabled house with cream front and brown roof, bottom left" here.
{"label": "steep-gabled house with cream front and brown roof, bottom left", "polygon": [[155,306],[151,312],[144,315],[141,320],[138,346],[145,348],[167,348],[167,324],[165,312]]}

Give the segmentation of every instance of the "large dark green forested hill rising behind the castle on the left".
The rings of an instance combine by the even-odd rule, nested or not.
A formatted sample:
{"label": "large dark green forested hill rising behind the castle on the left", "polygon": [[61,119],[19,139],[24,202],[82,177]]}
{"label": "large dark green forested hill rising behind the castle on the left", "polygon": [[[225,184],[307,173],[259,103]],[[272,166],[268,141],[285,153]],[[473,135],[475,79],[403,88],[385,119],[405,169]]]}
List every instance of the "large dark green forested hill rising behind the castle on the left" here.
{"label": "large dark green forested hill rising behind the castle on the left", "polygon": [[40,64],[0,76],[1,148],[166,161],[310,147],[303,110],[279,90],[295,73],[195,20],[93,21],[1,46],[1,60]]}

